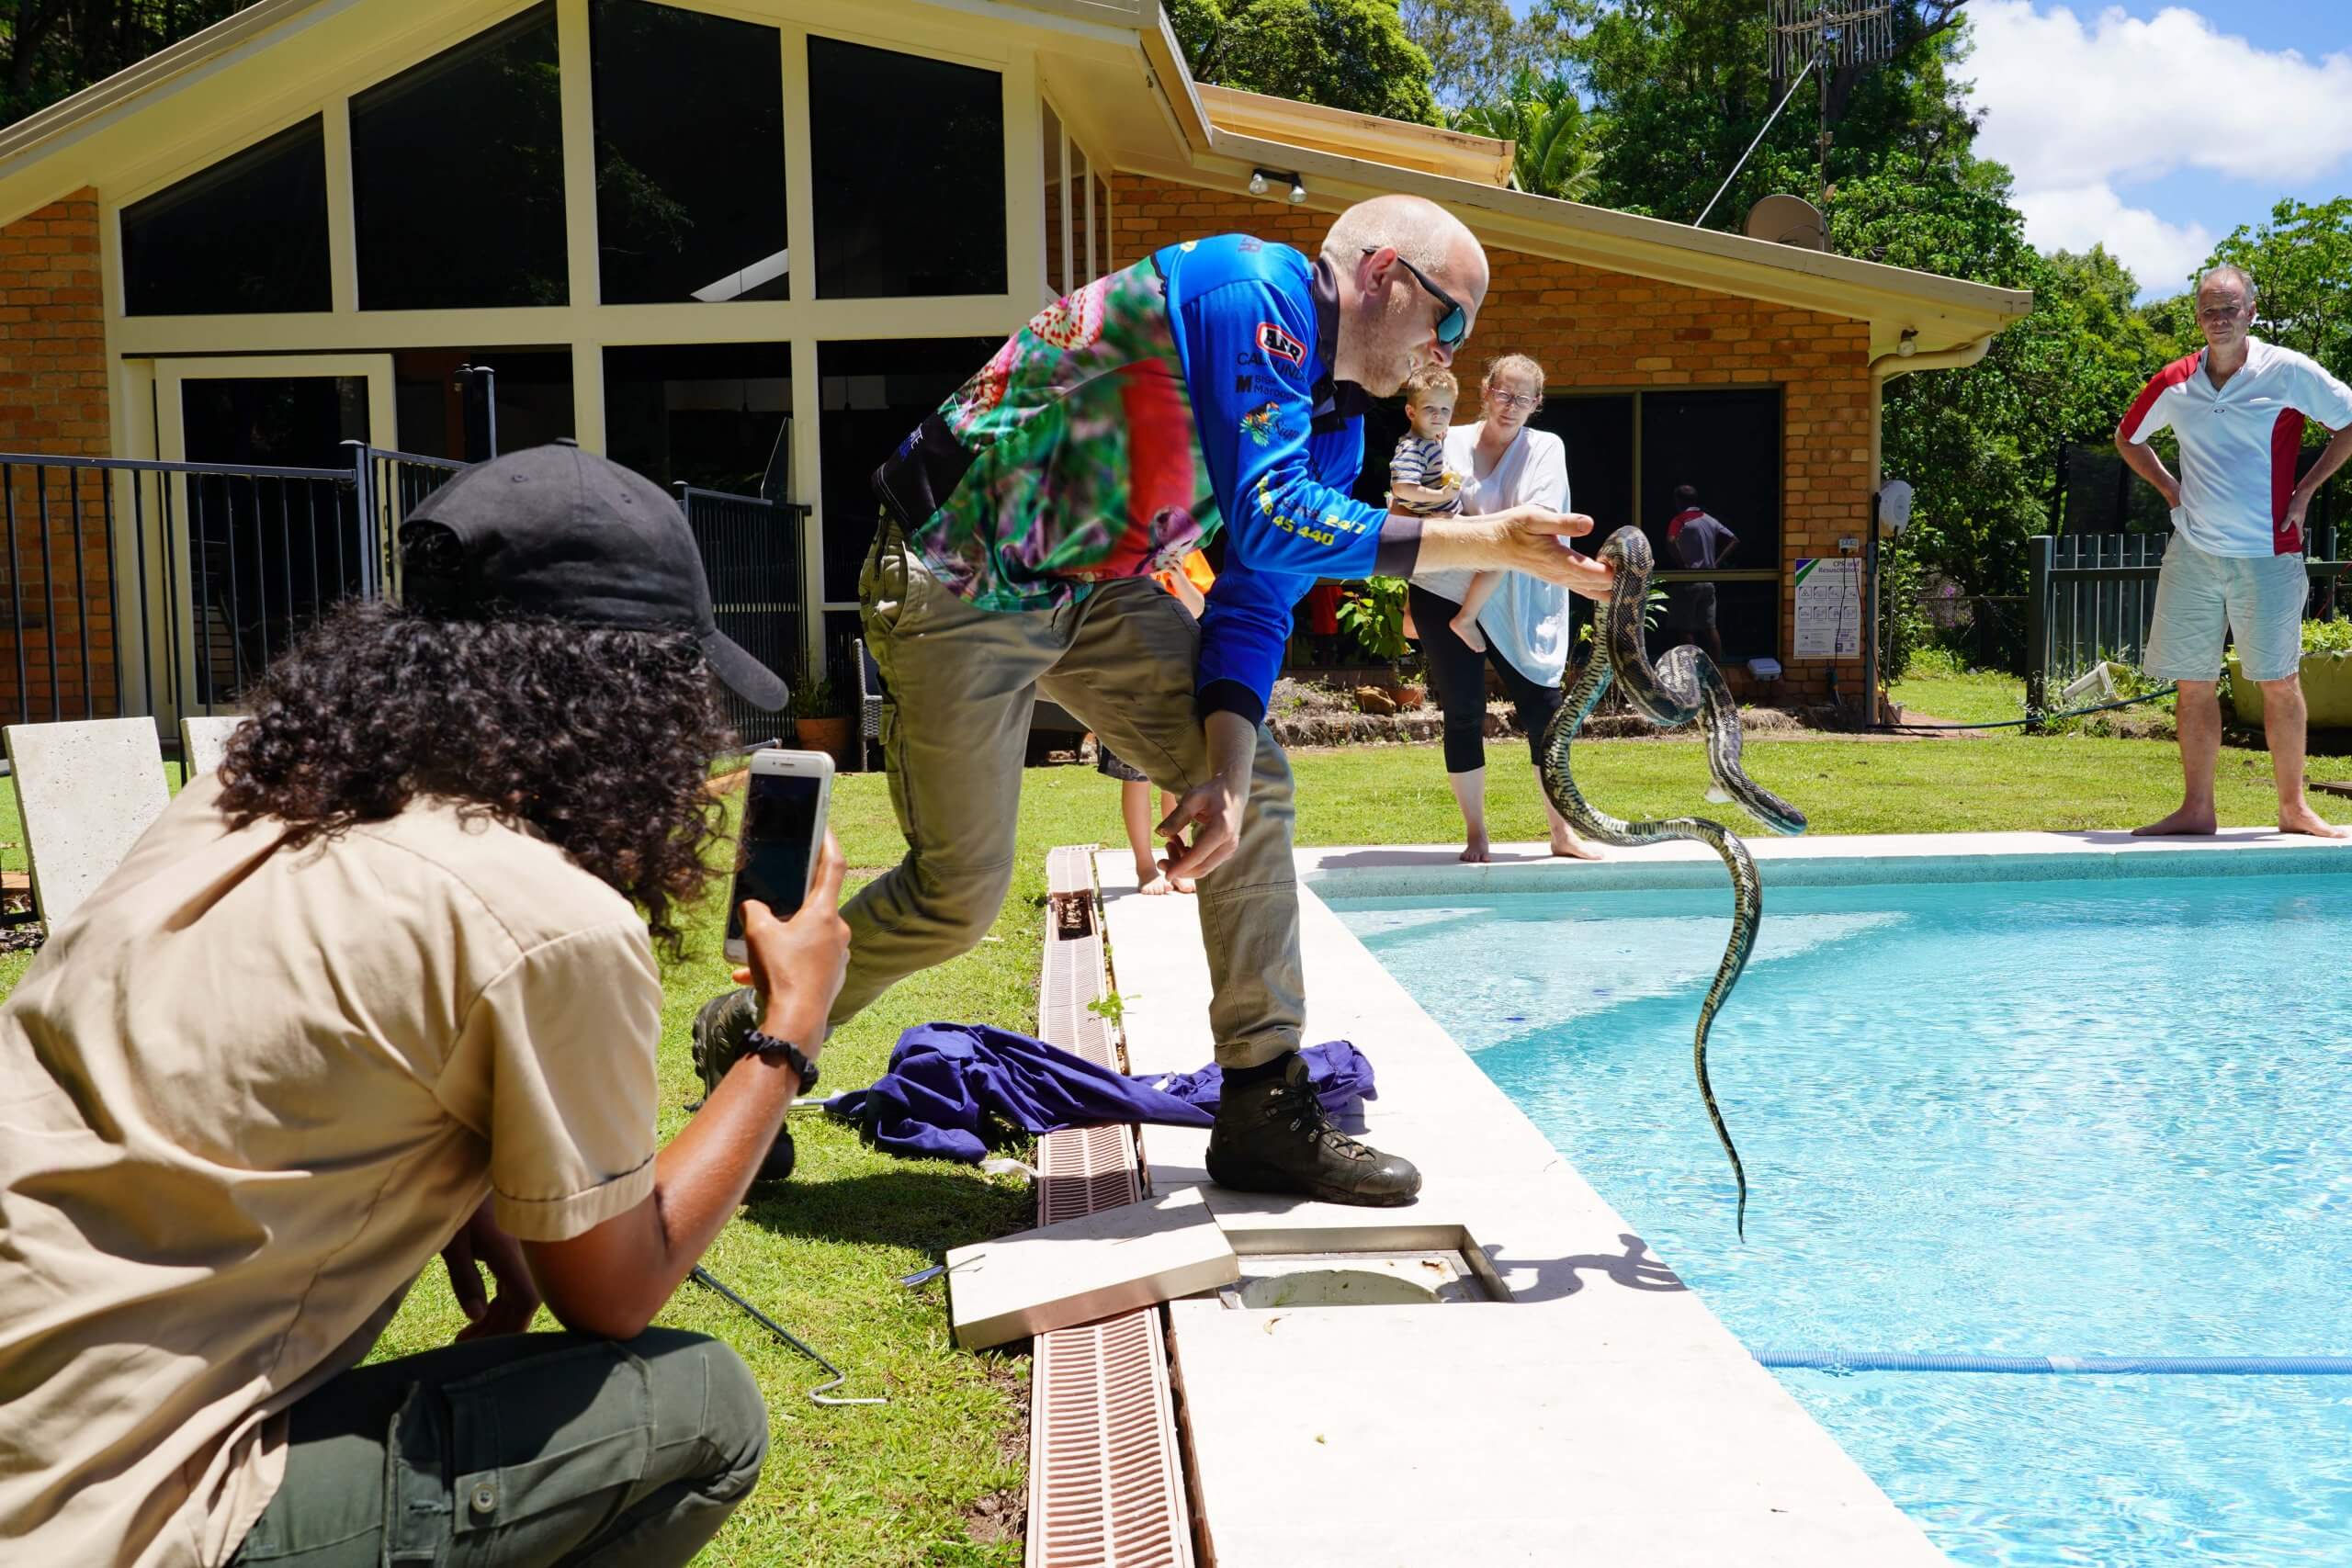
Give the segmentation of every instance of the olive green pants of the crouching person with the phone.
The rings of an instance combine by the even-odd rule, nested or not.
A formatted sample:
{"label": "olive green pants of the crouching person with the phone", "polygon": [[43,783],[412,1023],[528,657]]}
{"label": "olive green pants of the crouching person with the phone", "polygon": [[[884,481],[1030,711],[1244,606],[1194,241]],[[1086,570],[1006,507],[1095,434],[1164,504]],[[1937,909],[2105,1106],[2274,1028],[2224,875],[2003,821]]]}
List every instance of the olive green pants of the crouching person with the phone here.
{"label": "olive green pants of the crouching person with the phone", "polygon": [[675,1328],[379,1361],[289,1425],[285,1481],[230,1568],[680,1568],[767,1458],[750,1368]]}

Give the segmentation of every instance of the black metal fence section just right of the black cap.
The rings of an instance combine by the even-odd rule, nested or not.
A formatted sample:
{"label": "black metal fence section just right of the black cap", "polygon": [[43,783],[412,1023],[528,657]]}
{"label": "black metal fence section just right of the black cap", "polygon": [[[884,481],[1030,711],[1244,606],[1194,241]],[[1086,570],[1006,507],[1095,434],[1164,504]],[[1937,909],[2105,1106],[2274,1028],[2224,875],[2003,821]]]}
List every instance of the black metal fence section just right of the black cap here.
{"label": "black metal fence section just right of the black cap", "polygon": [[[694,543],[710,581],[720,630],[746,654],[781,675],[795,693],[807,679],[809,602],[802,581],[802,536],[809,508],[793,501],[729,496],[677,487]],[[781,715],[767,715],[724,693],[727,719],[746,741],[776,736]]]}

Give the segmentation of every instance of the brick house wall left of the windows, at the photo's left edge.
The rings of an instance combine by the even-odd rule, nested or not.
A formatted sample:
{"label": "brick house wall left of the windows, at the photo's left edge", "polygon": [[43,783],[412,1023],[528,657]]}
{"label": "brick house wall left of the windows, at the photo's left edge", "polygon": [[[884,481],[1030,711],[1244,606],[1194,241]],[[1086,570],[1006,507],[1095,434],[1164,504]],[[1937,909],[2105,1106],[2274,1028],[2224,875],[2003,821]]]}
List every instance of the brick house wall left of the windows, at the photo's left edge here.
{"label": "brick house wall left of the windows, at the photo's left edge", "polygon": [[[108,456],[99,287],[96,190],[0,226],[0,451]],[[14,717],[21,701],[31,719],[113,715],[103,489],[96,475],[26,470],[7,489],[14,548],[0,559],[0,712]]]}

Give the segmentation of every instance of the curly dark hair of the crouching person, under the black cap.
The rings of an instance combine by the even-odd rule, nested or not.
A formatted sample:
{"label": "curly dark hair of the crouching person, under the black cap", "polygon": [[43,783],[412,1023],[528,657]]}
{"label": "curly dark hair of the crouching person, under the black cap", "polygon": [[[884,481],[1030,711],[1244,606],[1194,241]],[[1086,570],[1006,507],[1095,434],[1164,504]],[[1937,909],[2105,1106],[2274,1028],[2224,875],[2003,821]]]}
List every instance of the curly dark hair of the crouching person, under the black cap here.
{"label": "curly dark hair of the crouching person, under the black cap", "polygon": [[358,602],[270,665],[249,708],[221,762],[230,825],[275,818],[301,846],[442,795],[536,827],[682,952],[677,907],[710,879],[722,816],[708,764],[734,743],[691,635]]}

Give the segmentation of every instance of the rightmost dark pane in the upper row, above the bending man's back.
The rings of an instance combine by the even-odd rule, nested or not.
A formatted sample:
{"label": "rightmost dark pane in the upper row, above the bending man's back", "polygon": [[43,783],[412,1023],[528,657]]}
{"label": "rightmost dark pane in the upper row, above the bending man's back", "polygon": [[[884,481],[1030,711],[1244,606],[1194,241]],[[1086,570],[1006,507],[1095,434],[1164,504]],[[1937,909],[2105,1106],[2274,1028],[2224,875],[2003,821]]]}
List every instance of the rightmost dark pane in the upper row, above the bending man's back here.
{"label": "rightmost dark pane in the upper row, above the bending man's back", "polygon": [[995,71],[811,38],[809,127],[818,296],[1004,292]]}

